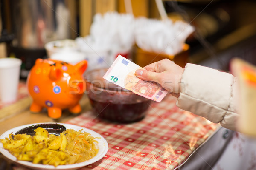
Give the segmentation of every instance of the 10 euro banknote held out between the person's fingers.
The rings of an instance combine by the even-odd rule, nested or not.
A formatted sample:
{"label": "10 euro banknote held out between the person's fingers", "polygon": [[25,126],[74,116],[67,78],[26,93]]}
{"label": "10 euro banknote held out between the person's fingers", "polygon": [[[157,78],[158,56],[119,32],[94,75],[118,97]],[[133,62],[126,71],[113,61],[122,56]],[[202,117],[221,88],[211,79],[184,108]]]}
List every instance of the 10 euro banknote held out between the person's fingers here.
{"label": "10 euro banknote held out between the person's fingers", "polygon": [[160,102],[168,91],[157,82],[139,79],[135,76],[138,69],[143,68],[119,55],[103,78],[135,94]]}

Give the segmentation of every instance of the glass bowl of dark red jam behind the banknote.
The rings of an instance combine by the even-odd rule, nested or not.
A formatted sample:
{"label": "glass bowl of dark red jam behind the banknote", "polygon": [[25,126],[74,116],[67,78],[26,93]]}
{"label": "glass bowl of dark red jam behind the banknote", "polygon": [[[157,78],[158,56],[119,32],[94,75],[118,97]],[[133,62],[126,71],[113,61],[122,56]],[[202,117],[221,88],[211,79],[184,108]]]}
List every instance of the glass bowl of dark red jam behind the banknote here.
{"label": "glass bowl of dark red jam behind the banknote", "polygon": [[103,79],[108,68],[86,72],[86,92],[93,113],[111,122],[131,123],[142,120],[151,100]]}

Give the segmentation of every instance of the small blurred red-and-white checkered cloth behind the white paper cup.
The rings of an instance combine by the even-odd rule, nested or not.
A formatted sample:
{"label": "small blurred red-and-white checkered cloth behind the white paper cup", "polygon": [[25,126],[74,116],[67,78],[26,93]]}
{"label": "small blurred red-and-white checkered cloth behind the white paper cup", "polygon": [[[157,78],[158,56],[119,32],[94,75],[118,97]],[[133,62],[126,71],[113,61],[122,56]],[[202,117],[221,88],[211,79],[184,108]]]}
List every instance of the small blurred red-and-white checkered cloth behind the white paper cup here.
{"label": "small blurred red-and-white checkered cloth behind the white paper cup", "polygon": [[[19,82],[19,85],[18,85],[18,91],[17,91],[17,101],[21,100],[21,99],[24,99],[25,97],[28,97],[28,91],[27,91],[27,88],[26,88],[26,82],[25,81],[20,81]],[[6,106],[9,106],[9,105],[12,105],[14,104],[15,102],[10,102],[10,103],[3,103],[0,101],[0,109],[1,108],[4,108]]]}

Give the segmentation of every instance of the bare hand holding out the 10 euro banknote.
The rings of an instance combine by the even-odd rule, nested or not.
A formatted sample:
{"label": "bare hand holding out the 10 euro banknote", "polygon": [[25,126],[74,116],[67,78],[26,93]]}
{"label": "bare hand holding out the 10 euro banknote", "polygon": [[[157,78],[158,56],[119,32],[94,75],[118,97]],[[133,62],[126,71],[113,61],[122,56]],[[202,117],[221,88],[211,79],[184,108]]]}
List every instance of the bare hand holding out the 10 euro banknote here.
{"label": "bare hand holding out the 10 euro banknote", "polygon": [[175,97],[180,93],[180,82],[184,68],[175,64],[169,59],[163,59],[139,69],[135,75],[145,81],[154,81],[159,83]]}

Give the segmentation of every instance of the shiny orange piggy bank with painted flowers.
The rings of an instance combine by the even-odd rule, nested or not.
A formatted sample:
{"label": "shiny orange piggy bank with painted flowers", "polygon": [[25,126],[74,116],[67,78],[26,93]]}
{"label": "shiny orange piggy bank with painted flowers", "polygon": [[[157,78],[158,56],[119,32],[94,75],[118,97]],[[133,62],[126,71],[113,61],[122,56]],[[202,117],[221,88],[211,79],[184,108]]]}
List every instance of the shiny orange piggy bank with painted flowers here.
{"label": "shiny orange piggy bank with painted flowers", "polygon": [[27,78],[27,87],[33,102],[30,111],[40,112],[47,108],[48,116],[53,119],[61,117],[62,109],[71,113],[81,112],[79,100],[85,90],[83,73],[87,61],[76,65],[67,62],[37,59]]}

